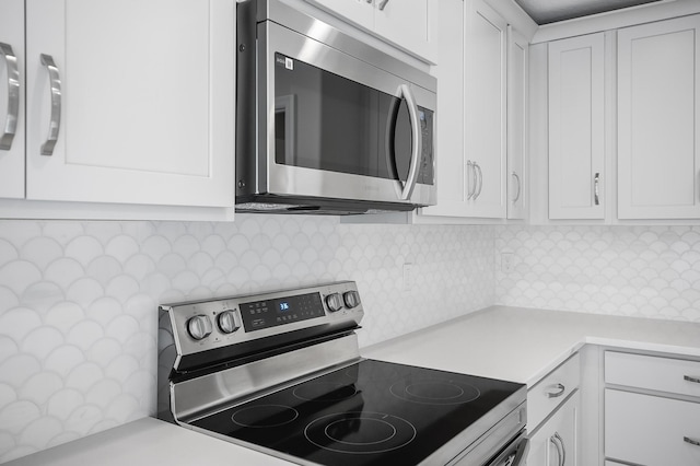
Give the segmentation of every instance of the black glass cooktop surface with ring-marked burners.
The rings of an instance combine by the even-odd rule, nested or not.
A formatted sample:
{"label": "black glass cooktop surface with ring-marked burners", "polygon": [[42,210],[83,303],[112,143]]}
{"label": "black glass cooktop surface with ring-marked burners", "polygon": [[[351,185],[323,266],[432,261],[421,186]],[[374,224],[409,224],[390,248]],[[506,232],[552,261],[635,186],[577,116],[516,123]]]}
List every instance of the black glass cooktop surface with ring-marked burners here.
{"label": "black glass cooktop surface with ring-marked burners", "polygon": [[521,387],[363,360],[192,424],[319,465],[417,465]]}

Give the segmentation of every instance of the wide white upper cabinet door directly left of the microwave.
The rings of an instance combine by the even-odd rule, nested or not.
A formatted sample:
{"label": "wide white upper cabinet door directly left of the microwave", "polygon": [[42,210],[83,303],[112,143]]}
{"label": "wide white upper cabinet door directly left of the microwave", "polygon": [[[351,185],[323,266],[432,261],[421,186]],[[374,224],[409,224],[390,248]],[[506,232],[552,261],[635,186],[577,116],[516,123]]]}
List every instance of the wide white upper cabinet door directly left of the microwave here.
{"label": "wide white upper cabinet door directly left of the microwave", "polygon": [[234,0],[26,0],[26,38],[27,198],[233,206]]}

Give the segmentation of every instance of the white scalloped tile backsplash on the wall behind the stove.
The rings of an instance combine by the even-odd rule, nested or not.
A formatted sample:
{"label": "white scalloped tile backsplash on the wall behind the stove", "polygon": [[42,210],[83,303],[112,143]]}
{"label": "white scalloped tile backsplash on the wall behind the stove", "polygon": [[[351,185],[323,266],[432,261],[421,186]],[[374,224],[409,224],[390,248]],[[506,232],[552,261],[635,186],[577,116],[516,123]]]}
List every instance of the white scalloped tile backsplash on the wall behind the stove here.
{"label": "white scalloped tile backsplash on the wall behind the stove", "polygon": [[366,346],[493,303],[493,237],[283,215],[0,221],[0,463],[155,412],[159,303],[355,280]]}

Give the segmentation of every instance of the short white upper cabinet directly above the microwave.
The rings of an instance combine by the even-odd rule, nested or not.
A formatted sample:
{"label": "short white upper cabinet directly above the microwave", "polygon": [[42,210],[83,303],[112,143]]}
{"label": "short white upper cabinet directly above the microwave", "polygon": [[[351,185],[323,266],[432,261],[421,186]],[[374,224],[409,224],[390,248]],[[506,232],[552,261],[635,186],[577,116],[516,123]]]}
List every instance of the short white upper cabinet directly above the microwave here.
{"label": "short white upper cabinet directly above the microwave", "polygon": [[434,62],[438,0],[307,0]]}

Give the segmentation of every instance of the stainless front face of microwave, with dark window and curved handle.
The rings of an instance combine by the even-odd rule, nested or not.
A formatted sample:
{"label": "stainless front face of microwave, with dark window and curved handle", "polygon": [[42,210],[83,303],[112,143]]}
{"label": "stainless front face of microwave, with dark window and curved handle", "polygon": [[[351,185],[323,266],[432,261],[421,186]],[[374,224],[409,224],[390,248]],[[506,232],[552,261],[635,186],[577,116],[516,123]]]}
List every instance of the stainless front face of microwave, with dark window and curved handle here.
{"label": "stainless front face of microwave, with dark window and curved handle", "polygon": [[434,203],[435,94],[328,44],[258,24],[259,191]]}

